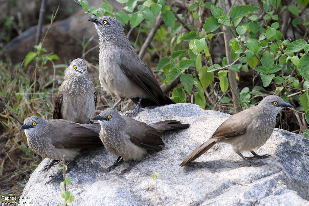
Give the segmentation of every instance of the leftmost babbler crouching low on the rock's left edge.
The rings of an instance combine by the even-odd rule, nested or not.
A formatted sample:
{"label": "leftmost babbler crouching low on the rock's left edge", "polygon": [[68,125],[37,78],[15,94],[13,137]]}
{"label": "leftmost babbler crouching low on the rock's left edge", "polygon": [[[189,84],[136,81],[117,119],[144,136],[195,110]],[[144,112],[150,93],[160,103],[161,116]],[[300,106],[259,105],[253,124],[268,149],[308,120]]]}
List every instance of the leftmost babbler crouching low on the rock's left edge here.
{"label": "leftmost babbler crouching low on the rock's left edge", "polygon": [[29,148],[38,155],[52,159],[48,170],[62,160],[73,161],[81,149],[102,145],[99,124],[78,124],[68,120],[43,120],[37,116],[25,119],[24,129]]}

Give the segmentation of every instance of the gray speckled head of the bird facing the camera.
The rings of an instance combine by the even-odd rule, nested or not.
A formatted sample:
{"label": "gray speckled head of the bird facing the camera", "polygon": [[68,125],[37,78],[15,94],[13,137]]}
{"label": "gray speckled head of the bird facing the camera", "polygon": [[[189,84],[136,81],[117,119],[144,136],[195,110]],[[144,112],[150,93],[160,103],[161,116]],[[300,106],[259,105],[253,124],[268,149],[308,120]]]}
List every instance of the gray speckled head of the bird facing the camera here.
{"label": "gray speckled head of the bird facing the camera", "polygon": [[66,68],[65,79],[88,77],[86,62],[83,59],[74,59]]}

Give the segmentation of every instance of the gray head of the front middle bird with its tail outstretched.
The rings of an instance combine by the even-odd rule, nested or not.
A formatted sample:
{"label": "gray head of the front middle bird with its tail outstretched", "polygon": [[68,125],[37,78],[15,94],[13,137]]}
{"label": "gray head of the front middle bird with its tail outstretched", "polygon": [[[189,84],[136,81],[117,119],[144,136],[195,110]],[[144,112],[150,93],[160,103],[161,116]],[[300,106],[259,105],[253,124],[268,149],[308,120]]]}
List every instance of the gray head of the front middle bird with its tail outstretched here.
{"label": "gray head of the front middle bird with its tail outstretched", "polygon": [[102,128],[119,128],[125,125],[123,117],[117,111],[110,109],[101,111],[101,113],[93,117],[92,120],[99,120]]}

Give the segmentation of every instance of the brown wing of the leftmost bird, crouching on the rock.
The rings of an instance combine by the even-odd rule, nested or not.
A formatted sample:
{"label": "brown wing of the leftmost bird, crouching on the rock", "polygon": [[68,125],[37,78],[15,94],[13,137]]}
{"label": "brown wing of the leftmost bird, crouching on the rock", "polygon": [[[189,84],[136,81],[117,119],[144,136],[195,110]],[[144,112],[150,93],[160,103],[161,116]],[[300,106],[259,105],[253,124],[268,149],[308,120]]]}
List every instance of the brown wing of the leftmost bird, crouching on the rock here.
{"label": "brown wing of the leftmost bird, crouching on the rock", "polygon": [[48,120],[52,144],[56,148],[89,148],[102,145],[99,124],[78,124],[67,120]]}

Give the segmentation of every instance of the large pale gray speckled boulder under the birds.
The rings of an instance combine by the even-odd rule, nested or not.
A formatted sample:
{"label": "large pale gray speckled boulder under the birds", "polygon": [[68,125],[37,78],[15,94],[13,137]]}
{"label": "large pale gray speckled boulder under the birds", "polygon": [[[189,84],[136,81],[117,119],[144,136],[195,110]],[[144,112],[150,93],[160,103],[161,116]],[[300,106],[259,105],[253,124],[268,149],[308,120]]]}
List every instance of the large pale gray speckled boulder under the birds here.
{"label": "large pale gray speckled boulder under the birds", "polygon": [[[103,147],[84,153],[67,174],[72,179],[67,190],[75,195],[71,205],[154,205],[154,173],[161,174],[158,205],[309,205],[309,140],[285,130],[275,129],[256,151],[272,156],[262,160],[266,165],[243,166],[244,161],[230,145],[219,143],[189,166],[179,166],[228,116],[194,104],[144,109],[137,120],[154,123],[173,119],[191,126],[165,133],[164,149],[148,154],[123,176],[119,173],[128,162],[110,173],[104,171],[117,157]],[[23,191],[23,197],[32,197],[35,205],[64,203],[61,180],[44,186],[59,169],[54,166],[41,174],[49,161],[45,159],[38,166]]]}

